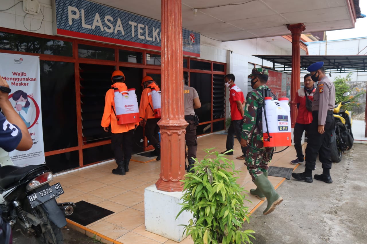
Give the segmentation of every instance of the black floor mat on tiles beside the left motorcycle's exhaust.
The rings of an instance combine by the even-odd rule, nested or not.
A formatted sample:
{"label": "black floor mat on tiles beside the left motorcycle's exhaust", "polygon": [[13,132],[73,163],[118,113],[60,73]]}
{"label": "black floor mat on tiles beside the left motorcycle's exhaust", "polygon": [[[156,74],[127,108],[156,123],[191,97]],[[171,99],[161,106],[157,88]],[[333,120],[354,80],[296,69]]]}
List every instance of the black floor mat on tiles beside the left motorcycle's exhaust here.
{"label": "black floor mat on tiles beside the left motorcycle's exhaust", "polygon": [[87,226],[90,223],[97,221],[98,219],[104,218],[112,212],[108,209],[98,207],[97,205],[87,203],[84,201],[80,201],[75,203],[74,212],[70,216],[66,216],[66,218],[79,223],[80,225]]}

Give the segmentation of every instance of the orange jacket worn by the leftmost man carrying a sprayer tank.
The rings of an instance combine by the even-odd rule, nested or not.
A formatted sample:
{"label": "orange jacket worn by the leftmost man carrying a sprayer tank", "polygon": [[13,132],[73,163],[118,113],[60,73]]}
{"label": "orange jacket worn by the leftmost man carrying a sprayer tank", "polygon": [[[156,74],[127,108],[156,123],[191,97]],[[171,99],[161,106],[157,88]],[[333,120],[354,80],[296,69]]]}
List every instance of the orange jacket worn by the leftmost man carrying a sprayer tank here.
{"label": "orange jacket worn by the leftmost man carrying a sprayer tank", "polygon": [[111,124],[111,132],[115,134],[127,132],[129,130],[134,129],[135,125],[139,125],[138,122],[119,125],[117,124],[116,114],[113,111],[113,110],[116,111],[115,101],[113,100],[113,98],[115,97],[115,91],[113,88],[118,88],[119,92],[122,92],[122,91],[127,90],[126,84],[123,82],[116,82],[111,87],[112,89],[109,89],[106,93],[105,109],[103,111],[101,126],[108,127]]}

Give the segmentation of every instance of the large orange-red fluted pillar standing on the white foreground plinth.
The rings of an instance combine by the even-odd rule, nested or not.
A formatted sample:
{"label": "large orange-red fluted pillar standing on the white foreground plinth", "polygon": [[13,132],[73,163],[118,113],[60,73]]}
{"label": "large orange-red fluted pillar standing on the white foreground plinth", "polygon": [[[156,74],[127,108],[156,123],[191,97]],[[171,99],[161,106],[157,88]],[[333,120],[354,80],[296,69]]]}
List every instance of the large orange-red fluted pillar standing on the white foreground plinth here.
{"label": "large orange-red fluted pillar standing on the white foreground plinth", "polygon": [[181,0],[161,0],[161,173],[158,190],[182,191],[185,172]]}

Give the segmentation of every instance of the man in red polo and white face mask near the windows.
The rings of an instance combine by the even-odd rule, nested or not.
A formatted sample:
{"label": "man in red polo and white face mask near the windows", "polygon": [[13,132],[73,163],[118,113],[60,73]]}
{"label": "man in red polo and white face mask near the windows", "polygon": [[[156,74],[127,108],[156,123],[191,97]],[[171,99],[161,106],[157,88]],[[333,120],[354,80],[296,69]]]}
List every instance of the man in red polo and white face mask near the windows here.
{"label": "man in red polo and white face mask near the windows", "polygon": [[[237,140],[241,141],[242,124],[243,124],[243,103],[245,98],[241,89],[235,84],[235,75],[227,74],[224,77],[225,86],[229,87],[229,103],[230,103],[230,116],[232,121],[230,122],[227,134],[226,151],[233,149],[235,143],[235,135]],[[247,147],[241,147],[242,155],[236,159],[246,159]],[[224,151],[224,152],[226,152]],[[222,152],[222,154],[224,153]],[[233,155],[233,152],[229,152],[227,155]]]}

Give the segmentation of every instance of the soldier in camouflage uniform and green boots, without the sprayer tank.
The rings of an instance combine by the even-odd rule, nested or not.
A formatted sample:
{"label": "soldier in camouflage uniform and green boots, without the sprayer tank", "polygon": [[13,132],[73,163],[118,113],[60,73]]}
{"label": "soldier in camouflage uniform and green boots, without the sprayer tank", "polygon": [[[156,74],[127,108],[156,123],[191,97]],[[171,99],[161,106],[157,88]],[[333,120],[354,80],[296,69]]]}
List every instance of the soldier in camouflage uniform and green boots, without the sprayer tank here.
{"label": "soldier in camouflage uniform and green boots, without the sprayer tank", "polygon": [[[268,200],[268,206],[263,214],[272,212],[283,198],[275,191],[268,180],[268,163],[272,159],[273,147],[264,147],[262,138],[262,110],[264,109],[264,96],[262,90],[270,90],[266,86],[269,73],[267,69],[252,69],[250,75],[251,87],[254,89],[247,94],[246,106],[243,117],[243,130],[241,146],[247,147],[245,165],[252,181],[257,186],[250,193],[258,199]],[[275,95],[272,95],[276,99]]]}

